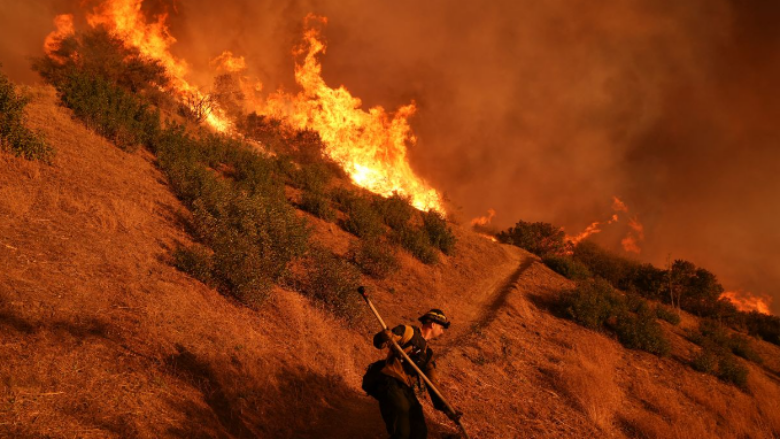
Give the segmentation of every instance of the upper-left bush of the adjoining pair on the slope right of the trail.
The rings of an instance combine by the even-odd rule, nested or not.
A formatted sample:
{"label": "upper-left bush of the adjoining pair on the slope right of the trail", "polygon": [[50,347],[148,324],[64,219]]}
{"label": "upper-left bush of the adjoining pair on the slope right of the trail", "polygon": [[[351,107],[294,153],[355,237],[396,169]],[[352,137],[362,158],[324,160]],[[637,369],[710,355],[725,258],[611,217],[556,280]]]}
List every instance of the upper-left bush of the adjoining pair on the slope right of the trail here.
{"label": "upper-left bush of the adjoining pair on the slope right of the trail", "polygon": [[620,294],[601,278],[579,282],[577,288],[561,297],[561,305],[569,318],[595,330],[627,312]]}

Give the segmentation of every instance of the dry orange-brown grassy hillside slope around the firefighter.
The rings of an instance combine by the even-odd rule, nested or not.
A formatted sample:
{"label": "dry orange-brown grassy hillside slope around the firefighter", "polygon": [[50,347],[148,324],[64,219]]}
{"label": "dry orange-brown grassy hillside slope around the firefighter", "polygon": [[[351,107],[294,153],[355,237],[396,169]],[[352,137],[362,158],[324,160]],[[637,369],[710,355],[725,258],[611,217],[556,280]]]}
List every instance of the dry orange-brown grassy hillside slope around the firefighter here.
{"label": "dry orange-brown grassy hillside slope around the firefighter", "polygon": [[[382,355],[370,316],[350,326],[278,287],[252,310],[176,270],[189,213],[152,154],[87,130],[52,89],[30,93],[29,124],[57,156],[0,154],[0,437],[385,437],[360,390]],[[336,253],[356,239],[298,214]],[[662,323],[669,358],[624,349],[556,316],[571,284],[537,257],[453,229],[453,256],[401,252],[401,270],[364,281],[389,323],[450,316],[433,347],[472,437],[780,435],[776,346],[755,342],[747,391],[686,365],[691,316]],[[454,431],[427,414],[432,437]]]}

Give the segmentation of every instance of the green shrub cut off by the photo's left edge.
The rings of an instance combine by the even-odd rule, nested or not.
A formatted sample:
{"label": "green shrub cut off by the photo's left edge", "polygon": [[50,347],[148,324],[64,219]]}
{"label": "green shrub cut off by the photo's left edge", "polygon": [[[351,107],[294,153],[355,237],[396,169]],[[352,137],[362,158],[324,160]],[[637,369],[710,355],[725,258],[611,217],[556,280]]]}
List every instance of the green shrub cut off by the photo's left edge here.
{"label": "green shrub cut off by the photo's left edge", "polygon": [[51,163],[54,149],[24,126],[24,107],[29,99],[16,93],[11,81],[0,72],[0,150],[8,150],[27,160]]}

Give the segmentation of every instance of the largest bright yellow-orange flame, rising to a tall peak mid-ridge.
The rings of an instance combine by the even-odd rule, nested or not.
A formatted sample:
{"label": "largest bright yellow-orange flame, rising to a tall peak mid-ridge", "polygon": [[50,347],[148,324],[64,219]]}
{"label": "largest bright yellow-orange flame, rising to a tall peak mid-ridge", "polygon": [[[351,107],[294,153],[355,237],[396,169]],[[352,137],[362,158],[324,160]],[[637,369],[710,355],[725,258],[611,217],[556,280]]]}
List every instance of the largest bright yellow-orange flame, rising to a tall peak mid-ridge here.
{"label": "largest bright yellow-orange flame, rising to a tall peak mid-ridge", "polygon": [[317,131],[325,154],[339,163],[355,184],[383,196],[398,192],[408,196],[418,209],[445,213],[441,195],[414,173],[407,160],[407,145],[416,142],[408,122],[416,111],[415,104],[402,106],[394,114],[380,106],[366,111],[361,100],[344,86],[334,89],[325,84],[318,56],[325,53],[326,46],[318,26],[326,23],[325,17],[307,16],[303,43],[293,51],[303,56],[295,66],[295,80],[302,91],[294,96],[274,93],[258,112],[296,129]]}

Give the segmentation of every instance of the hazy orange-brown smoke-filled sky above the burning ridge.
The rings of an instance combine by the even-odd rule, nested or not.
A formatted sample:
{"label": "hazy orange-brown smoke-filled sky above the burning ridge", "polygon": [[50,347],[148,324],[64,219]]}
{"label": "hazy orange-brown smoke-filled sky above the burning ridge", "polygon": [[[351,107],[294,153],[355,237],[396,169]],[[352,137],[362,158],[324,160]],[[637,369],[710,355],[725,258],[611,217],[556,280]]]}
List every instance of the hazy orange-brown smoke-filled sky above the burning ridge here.
{"label": "hazy orange-brown smoke-filled sky above the burning ridge", "polygon": [[[0,62],[32,78],[54,13],[0,0]],[[265,92],[295,91],[303,17],[328,17],[323,76],[364,106],[414,100],[413,167],[462,222],[545,221],[570,233],[618,196],[667,255],[780,310],[780,3],[728,0],[147,1],[207,84],[223,50]],[[24,20],[19,17],[24,16]],[[26,21],[25,21],[26,20]],[[22,25],[23,23],[23,25]],[[620,251],[627,217],[596,242]],[[625,253],[624,253],[625,254]],[[629,254],[627,254],[629,255]]]}

